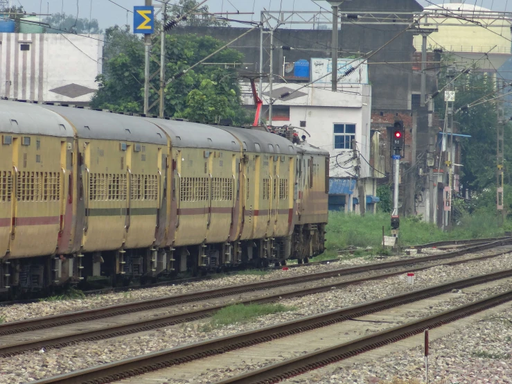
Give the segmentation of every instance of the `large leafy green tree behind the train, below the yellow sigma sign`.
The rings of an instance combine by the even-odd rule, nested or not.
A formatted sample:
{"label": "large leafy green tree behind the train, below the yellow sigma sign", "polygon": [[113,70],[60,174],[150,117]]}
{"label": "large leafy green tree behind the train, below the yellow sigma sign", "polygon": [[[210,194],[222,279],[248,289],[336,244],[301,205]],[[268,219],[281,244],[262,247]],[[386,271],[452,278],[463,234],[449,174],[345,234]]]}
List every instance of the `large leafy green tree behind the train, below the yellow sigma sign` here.
{"label": "large leafy green tree behind the train, below the yellow sigma sign", "polygon": [[[107,29],[105,40],[104,73],[96,78],[99,89],[91,100],[91,106],[116,112],[143,112],[144,45],[129,28],[115,26]],[[224,43],[210,36],[166,35],[166,78],[191,67]],[[159,56],[159,41],[152,47],[153,55]],[[209,62],[241,62],[242,54],[224,49]],[[159,66],[151,62],[150,73]],[[240,101],[240,88],[236,71],[218,65],[199,65],[184,76],[173,79],[165,87],[166,116],[190,119],[204,123],[232,119],[234,123],[246,123],[247,116]],[[159,88],[158,76],[152,85]],[[150,89],[150,105],[158,94]],[[157,114],[158,105],[150,110]]]}

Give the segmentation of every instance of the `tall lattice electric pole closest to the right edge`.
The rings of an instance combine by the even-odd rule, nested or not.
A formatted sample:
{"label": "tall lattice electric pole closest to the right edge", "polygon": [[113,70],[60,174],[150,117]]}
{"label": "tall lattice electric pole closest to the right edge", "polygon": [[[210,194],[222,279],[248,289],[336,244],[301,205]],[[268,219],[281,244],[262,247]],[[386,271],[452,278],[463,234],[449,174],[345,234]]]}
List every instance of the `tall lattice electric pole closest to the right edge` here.
{"label": "tall lattice electric pole closest to the right edge", "polygon": [[[500,95],[503,95],[504,84],[500,79],[496,79],[496,87],[500,89]],[[496,210],[497,222],[499,226],[503,225],[505,211],[503,209],[503,166],[504,166],[504,125],[505,114],[503,108],[503,99],[498,99],[496,103],[497,112],[497,145],[496,145]]]}

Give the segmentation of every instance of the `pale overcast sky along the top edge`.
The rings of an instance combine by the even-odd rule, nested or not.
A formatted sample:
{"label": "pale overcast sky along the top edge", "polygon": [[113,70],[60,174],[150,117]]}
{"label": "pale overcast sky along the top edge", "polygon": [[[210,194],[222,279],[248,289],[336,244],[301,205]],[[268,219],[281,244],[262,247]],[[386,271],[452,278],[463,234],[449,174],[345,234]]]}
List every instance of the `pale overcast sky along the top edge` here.
{"label": "pale overcast sky along the top edge", "polygon": [[[118,3],[116,6],[109,0],[10,0],[12,5],[22,5],[27,12],[58,13],[61,10],[71,15],[77,13],[78,17],[89,19],[98,19],[100,28],[107,28],[114,24],[133,24],[133,15],[123,8],[133,10],[134,6],[142,6],[144,0],[112,0]],[[357,1],[357,0],[356,0]],[[430,0],[434,3],[442,4],[443,0]],[[428,6],[430,1],[418,0],[422,6]],[[466,0],[468,4],[476,4],[492,10],[512,11],[512,0]],[[177,3],[178,0],[170,0],[170,3]],[[509,3],[510,2],[510,3]],[[159,1],[153,0],[157,4]],[[260,19],[260,11],[263,8],[267,10],[279,10],[282,3],[283,10],[319,10],[320,6],[329,8],[325,0],[208,0],[206,4],[210,7],[210,12],[254,12],[254,15],[231,16],[238,19]],[[450,0],[444,0],[444,3],[450,3]],[[123,8],[121,8],[122,6]],[[254,9],[253,9],[254,6]]]}

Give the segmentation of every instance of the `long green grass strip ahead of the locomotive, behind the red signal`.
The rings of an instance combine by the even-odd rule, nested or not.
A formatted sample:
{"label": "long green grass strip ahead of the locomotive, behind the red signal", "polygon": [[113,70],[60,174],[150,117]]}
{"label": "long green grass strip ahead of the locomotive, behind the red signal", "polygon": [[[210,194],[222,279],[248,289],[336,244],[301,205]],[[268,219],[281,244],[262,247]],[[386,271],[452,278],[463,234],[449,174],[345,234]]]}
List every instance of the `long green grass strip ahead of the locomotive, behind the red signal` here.
{"label": "long green grass strip ahead of the locomotive, behind the red signal", "polygon": [[[364,217],[342,212],[330,212],[326,231],[326,259],[338,256],[338,251],[346,247],[361,247],[364,254],[378,254],[382,250],[382,227],[391,234],[389,214],[377,213]],[[464,216],[451,232],[443,232],[435,225],[414,218],[400,220],[400,245],[410,246],[434,241],[466,238],[488,238],[503,236],[504,229],[497,226],[495,215],[475,214]],[[371,252],[364,249],[371,247]],[[354,256],[354,255],[351,255]]]}

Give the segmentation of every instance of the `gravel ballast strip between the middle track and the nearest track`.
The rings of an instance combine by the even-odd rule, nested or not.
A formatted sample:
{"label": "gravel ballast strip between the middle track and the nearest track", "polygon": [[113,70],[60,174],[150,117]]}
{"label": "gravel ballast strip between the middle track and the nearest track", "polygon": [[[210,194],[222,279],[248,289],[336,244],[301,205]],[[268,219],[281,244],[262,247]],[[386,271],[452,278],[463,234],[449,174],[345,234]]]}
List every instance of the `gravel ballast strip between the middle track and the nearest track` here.
{"label": "gravel ballast strip between the middle track and the nearest track", "polygon": [[[135,335],[123,336],[122,338],[85,342],[63,349],[12,356],[3,359],[0,368],[0,382],[9,384],[30,382],[42,377],[55,376],[56,374],[63,374],[84,367],[121,360],[122,358],[148,354],[151,351],[177,347],[190,342],[277,324],[305,315],[330,311],[373,299],[409,292],[412,289],[425,288],[446,281],[464,279],[477,274],[506,268],[512,268],[512,259],[509,256],[496,257],[492,259],[491,263],[489,261],[475,261],[454,266],[443,265],[416,272],[414,288],[407,285],[407,277],[405,275],[369,281],[357,286],[330,290],[317,295],[282,300],[282,304],[294,306],[297,310],[267,315],[247,324],[232,324],[221,329],[205,332],[208,329],[204,326],[206,321],[194,322],[173,326],[166,330],[137,333]],[[279,272],[285,273],[283,271]],[[504,290],[508,289],[507,287],[510,287],[510,283],[496,289]],[[482,295],[485,294],[485,292],[482,293]],[[447,303],[447,305],[460,305],[472,299],[475,299],[475,295],[461,294],[456,302]],[[407,320],[412,320],[413,317],[414,314],[411,314],[411,317],[409,318],[408,316]]]}

